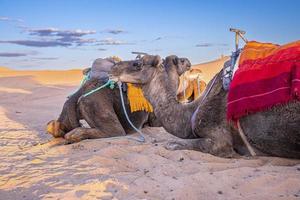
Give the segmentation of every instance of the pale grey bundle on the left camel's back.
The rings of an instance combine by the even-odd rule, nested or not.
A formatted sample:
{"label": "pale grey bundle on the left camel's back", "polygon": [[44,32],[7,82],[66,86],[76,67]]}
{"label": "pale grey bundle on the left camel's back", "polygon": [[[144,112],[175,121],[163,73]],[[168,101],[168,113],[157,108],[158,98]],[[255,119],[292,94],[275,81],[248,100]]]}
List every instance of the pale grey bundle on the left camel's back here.
{"label": "pale grey bundle on the left camel's back", "polygon": [[114,65],[115,62],[110,58],[96,59],[90,71],[90,78],[96,78],[96,79],[108,78],[108,73],[111,71],[111,68]]}

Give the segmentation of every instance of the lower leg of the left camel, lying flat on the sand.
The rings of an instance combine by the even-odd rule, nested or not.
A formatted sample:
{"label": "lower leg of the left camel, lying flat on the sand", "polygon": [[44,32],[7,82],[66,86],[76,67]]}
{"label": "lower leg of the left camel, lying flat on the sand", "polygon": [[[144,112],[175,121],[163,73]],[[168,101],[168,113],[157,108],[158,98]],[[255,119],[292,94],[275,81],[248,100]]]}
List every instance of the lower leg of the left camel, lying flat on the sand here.
{"label": "lower leg of the left camel, lying flat on the sand", "polygon": [[79,142],[84,139],[97,139],[97,138],[108,138],[115,136],[122,136],[122,132],[108,133],[103,132],[97,128],[75,128],[74,130],[67,133],[64,138],[68,144]]}

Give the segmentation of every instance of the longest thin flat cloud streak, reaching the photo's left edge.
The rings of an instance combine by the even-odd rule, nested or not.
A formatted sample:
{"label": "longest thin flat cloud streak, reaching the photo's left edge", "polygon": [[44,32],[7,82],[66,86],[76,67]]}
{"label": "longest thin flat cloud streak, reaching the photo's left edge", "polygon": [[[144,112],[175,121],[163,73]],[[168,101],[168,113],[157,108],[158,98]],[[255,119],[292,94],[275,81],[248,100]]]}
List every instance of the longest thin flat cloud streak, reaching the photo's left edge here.
{"label": "longest thin flat cloud streak, reaching the photo's left edge", "polygon": [[18,44],[29,47],[68,47],[72,43],[60,42],[55,40],[0,40],[0,43]]}

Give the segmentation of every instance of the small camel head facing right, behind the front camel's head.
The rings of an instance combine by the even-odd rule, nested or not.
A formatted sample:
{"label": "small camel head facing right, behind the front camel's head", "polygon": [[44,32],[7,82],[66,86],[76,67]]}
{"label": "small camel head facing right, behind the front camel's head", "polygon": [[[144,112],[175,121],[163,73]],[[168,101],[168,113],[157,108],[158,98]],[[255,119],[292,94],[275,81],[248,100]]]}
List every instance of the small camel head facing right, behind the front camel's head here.
{"label": "small camel head facing right, behind the front camel's head", "polygon": [[175,65],[178,76],[181,76],[184,72],[190,70],[191,62],[187,58],[178,58],[175,55],[168,56],[164,62],[166,70],[170,70],[172,65]]}

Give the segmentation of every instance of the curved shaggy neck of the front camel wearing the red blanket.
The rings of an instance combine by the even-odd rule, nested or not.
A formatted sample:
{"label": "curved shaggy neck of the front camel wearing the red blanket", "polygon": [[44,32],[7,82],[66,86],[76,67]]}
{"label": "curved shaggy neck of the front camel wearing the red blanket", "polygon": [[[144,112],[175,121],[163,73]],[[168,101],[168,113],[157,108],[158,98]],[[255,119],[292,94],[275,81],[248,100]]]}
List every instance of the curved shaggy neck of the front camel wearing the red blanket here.
{"label": "curved shaggy neck of the front camel wearing the red blanket", "polygon": [[142,87],[145,97],[154,108],[154,114],[172,135],[193,138],[190,120],[196,105],[179,103],[168,74],[165,71],[157,73],[149,84]]}

